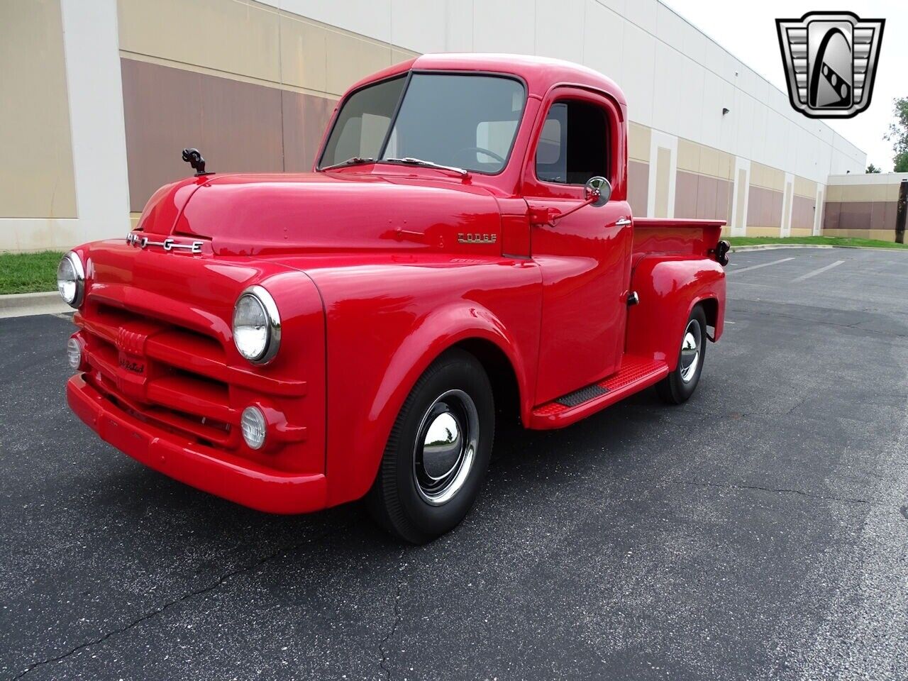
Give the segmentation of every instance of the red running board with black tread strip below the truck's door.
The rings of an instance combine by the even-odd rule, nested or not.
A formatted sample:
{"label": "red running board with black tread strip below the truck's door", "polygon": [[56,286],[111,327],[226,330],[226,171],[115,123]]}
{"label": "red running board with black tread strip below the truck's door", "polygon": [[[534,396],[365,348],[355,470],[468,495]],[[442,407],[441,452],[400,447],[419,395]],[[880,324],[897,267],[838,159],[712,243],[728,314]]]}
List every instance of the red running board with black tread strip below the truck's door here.
{"label": "red running board with black tread strip below the truck's door", "polygon": [[616,374],[539,405],[530,416],[529,428],[564,428],[658,383],[667,375],[668,365],[662,360],[625,355]]}

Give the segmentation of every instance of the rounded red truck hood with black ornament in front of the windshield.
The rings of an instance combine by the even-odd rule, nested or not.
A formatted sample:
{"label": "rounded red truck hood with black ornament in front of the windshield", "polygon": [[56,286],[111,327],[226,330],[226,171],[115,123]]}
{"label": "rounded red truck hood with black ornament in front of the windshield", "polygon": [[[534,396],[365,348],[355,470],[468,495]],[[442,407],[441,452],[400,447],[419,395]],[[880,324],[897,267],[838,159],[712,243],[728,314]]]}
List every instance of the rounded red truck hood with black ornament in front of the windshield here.
{"label": "rounded red truck hood with black ornament in front of the windshield", "polygon": [[491,193],[469,184],[369,173],[273,173],[208,175],[162,187],[137,229],[211,240],[215,254],[265,255],[457,251],[463,234],[483,235],[500,250],[500,222]]}

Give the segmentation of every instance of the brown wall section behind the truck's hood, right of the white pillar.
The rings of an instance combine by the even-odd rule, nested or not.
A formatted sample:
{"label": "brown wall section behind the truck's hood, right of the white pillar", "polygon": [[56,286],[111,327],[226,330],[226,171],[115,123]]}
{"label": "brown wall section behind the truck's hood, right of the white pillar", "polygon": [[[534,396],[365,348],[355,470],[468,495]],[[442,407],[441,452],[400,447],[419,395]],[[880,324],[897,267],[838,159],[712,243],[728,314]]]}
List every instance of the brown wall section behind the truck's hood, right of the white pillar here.
{"label": "brown wall section behind the truck's hood, right of the white pillar", "polygon": [[191,173],[183,147],[219,173],[308,171],[334,102],[210,74],[121,59],[130,210]]}

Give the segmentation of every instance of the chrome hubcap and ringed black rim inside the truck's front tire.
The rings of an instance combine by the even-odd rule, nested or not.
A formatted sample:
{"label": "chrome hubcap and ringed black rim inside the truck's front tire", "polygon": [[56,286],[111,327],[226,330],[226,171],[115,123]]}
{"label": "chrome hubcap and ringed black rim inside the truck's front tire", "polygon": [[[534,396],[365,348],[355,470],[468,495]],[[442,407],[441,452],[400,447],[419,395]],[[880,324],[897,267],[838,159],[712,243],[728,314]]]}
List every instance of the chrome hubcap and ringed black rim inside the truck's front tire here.
{"label": "chrome hubcap and ringed black rim inside the truck's front tire", "polygon": [[469,478],[479,442],[479,412],[463,390],[448,390],[422,417],[413,452],[413,478],[419,496],[441,506]]}

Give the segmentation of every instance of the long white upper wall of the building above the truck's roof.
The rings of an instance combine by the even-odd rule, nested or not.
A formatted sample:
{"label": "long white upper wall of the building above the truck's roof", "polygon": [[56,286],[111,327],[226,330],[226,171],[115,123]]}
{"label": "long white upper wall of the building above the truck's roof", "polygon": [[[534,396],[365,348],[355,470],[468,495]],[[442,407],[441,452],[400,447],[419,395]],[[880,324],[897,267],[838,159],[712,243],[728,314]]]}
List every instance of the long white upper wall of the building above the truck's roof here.
{"label": "long white upper wall of the building above the truck's roof", "polygon": [[263,2],[418,52],[587,64],[622,87],[636,123],[818,183],[864,170],[863,152],[658,0]]}

